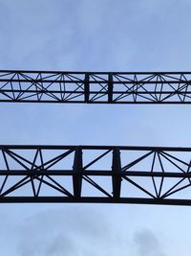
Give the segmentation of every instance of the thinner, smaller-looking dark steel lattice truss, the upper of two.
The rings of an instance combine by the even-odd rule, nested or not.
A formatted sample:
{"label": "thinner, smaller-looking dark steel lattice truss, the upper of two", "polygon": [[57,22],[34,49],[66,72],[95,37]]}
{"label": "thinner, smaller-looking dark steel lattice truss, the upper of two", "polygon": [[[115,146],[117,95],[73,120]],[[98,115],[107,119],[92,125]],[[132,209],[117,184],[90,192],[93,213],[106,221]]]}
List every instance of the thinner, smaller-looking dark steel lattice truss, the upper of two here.
{"label": "thinner, smaller-looking dark steel lattice truss, the upper of two", "polygon": [[1,70],[0,102],[191,104],[191,72]]}

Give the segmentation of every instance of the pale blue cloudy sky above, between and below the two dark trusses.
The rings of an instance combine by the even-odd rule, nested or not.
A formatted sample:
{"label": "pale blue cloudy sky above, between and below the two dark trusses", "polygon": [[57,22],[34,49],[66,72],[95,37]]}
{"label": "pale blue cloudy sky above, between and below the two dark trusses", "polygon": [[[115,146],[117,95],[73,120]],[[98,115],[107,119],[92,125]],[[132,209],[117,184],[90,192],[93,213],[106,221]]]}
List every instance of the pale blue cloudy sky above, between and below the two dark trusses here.
{"label": "pale blue cloudy sky above, between and below the two dark trusses", "polygon": [[[191,0],[0,0],[0,69],[190,71]],[[0,104],[0,144],[190,147],[189,105]],[[1,204],[4,256],[190,255],[191,208]]]}

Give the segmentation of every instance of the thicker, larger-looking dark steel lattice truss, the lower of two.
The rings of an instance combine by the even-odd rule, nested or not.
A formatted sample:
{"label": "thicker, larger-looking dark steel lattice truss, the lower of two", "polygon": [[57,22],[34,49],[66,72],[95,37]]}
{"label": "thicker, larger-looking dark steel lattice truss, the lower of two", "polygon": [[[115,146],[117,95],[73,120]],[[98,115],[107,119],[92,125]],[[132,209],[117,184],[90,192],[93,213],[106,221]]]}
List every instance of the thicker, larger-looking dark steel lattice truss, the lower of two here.
{"label": "thicker, larger-looking dark steel lattice truss, the lower of two", "polygon": [[0,202],[191,205],[191,148],[0,146]]}

